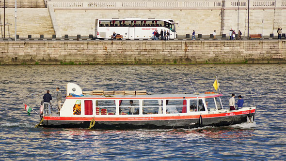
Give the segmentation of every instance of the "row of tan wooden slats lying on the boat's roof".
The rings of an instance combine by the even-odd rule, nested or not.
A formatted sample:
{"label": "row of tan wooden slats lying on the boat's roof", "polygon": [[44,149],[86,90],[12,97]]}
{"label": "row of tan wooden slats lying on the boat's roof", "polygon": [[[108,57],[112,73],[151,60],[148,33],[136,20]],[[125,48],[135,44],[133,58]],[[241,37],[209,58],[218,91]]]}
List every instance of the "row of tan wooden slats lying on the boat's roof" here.
{"label": "row of tan wooden slats lying on the boat's roof", "polygon": [[147,94],[146,90],[91,90],[91,91],[82,91],[83,95],[145,95]]}

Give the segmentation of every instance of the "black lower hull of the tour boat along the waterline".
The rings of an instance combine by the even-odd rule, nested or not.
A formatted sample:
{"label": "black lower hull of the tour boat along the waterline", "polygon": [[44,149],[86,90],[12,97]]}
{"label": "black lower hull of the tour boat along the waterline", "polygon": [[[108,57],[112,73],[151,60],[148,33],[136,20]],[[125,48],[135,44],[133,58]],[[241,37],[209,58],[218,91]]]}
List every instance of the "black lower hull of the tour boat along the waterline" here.
{"label": "black lower hull of the tour boat along the waterline", "polygon": [[[230,113],[231,114],[231,113]],[[247,122],[247,118],[253,117],[254,113],[209,117],[209,115],[198,115],[187,119],[155,119],[155,120],[100,120],[95,118],[92,129],[177,129],[177,128],[198,128],[204,126],[228,126]],[[49,128],[89,128],[93,121],[89,120],[56,120],[45,119],[43,127]]]}

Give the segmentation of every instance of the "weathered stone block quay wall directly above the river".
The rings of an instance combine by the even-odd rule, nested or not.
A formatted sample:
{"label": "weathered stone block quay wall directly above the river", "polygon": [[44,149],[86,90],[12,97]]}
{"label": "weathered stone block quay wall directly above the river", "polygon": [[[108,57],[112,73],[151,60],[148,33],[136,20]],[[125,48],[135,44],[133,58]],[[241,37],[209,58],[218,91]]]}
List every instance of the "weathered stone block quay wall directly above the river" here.
{"label": "weathered stone block quay wall directly above the river", "polygon": [[286,41],[6,41],[0,64],[286,63]]}

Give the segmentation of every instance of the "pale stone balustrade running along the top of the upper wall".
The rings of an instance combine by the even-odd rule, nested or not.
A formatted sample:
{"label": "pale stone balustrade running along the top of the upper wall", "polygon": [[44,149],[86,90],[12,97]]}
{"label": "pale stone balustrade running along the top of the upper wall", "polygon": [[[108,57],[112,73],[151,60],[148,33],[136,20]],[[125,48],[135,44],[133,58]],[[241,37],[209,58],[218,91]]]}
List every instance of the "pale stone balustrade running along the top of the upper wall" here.
{"label": "pale stone balustrade running along the top of the upper wall", "polygon": [[[221,9],[248,7],[248,0],[49,0],[54,9]],[[277,5],[278,4],[278,5]],[[286,0],[250,0],[251,9],[286,7]],[[241,8],[241,9],[242,9]]]}

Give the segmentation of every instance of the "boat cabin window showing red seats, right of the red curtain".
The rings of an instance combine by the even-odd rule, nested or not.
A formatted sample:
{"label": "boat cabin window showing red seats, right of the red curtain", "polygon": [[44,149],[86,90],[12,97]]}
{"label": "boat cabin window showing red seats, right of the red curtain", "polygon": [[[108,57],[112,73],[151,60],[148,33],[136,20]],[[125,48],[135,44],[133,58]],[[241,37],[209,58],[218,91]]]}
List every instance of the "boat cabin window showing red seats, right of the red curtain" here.
{"label": "boat cabin window showing red seats, right of the red curtain", "polygon": [[96,115],[116,115],[115,100],[97,100],[95,112]]}

